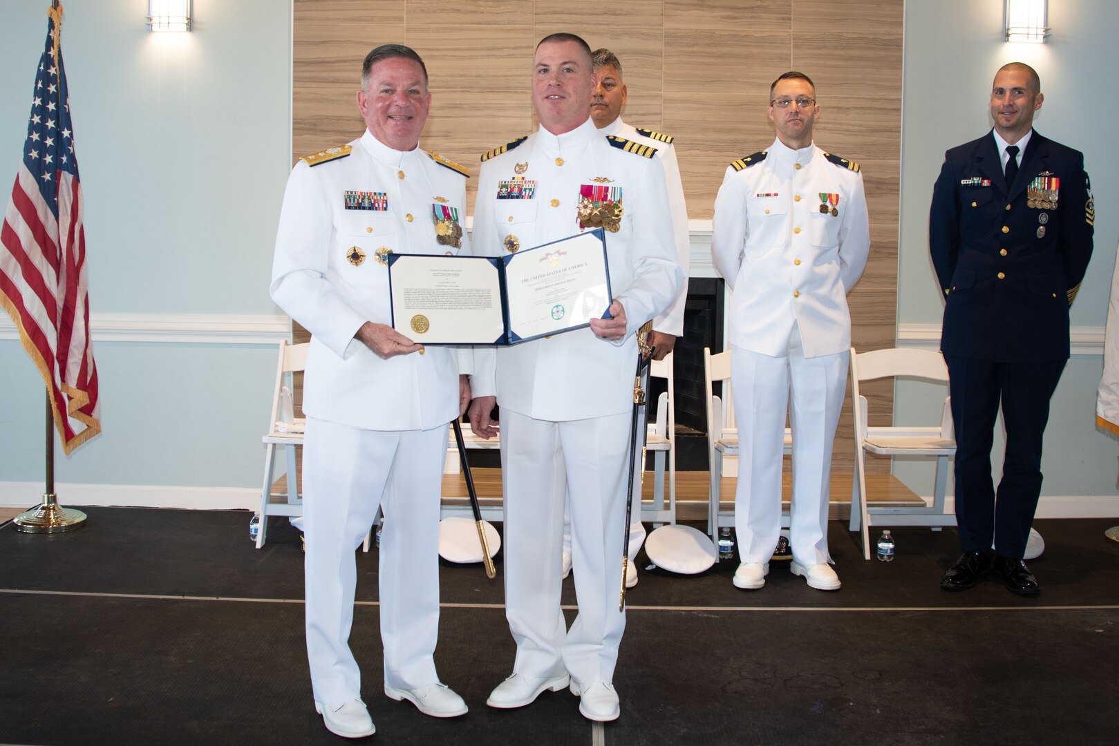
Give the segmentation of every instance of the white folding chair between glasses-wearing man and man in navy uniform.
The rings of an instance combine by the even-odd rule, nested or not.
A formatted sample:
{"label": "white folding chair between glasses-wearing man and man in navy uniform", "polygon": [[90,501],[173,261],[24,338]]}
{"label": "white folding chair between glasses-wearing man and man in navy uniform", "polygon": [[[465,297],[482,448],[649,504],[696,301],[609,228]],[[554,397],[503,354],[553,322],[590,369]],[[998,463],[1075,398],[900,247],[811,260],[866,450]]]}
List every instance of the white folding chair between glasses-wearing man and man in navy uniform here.
{"label": "white folding chair between glasses-wearing man and man in navy uniform", "polygon": [[[863,557],[871,558],[871,526],[956,526],[956,516],[944,510],[948,460],[956,454],[951,398],[944,398],[940,424],[927,427],[872,426],[868,405],[859,384],[880,378],[906,378],[948,384],[948,366],[940,352],[886,349],[856,353],[850,350],[850,400],[855,418],[855,478],[850,490],[850,530],[862,530]],[[929,456],[937,460],[932,506],[924,508],[869,507],[866,502],[866,454]]]}

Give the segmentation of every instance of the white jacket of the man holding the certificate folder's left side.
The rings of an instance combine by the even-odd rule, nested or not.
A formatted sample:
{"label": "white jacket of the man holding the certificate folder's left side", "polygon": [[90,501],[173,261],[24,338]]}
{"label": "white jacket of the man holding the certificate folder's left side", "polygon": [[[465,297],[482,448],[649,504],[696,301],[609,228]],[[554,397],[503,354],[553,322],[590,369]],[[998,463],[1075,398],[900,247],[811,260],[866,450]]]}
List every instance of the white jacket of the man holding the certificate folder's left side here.
{"label": "white jacket of the man holding the certificate folder's left side", "polygon": [[[280,214],[272,298],[311,332],[303,412],[365,429],[430,429],[459,412],[454,350],[384,360],[354,334],[366,321],[392,323],[386,252],[467,253],[466,235],[461,249],[438,244],[433,219],[446,207],[466,226],[466,178],[368,131],[349,147],[344,158],[297,163]],[[382,209],[346,209],[347,191],[383,195]]]}

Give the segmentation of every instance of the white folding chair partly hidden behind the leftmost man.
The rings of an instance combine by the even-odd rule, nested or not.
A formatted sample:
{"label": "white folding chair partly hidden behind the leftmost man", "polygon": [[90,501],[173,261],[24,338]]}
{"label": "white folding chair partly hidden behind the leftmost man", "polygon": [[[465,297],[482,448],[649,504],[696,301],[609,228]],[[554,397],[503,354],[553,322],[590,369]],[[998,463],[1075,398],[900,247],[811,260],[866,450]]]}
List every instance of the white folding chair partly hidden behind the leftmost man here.
{"label": "white folding chair partly hidden behind the leftmost man", "polygon": [[[272,415],[269,418],[269,432],[261,438],[264,443],[264,485],[261,489],[261,526],[256,533],[256,548],[264,546],[269,530],[270,516],[295,517],[303,514],[303,498],[299,491],[299,472],[297,471],[295,448],[303,445],[304,419],[295,416],[292,404],[291,387],[293,374],[307,368],[307,350],[310,342],[289,344],[288,340],[280,342],[280,360],[276,363],[276,379],[272,396]],[[275,483],[276,452],[283,448],[284,476],[286,492],[273,493]],[[273,498],[286,498],[285,502],[273,502]],[[378,521],[379,519],[378,512]],[[369,533],[363,545],[369,551]]]}

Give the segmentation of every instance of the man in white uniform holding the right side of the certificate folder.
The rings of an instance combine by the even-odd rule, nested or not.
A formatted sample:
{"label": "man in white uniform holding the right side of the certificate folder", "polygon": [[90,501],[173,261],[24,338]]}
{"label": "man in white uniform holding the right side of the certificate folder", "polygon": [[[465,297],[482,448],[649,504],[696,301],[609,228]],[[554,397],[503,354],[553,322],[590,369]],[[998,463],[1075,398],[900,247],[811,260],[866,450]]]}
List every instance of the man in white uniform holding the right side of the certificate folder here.
{"label": "man in white uniform holding the right side of the certificate folder", "polygon": [[[636,332],[664,313],[683,282],[660,159],[599,132],[590,117],[591,49],[574,35],[536,48],[533,105],[540,126],[487,153],[474,207],[477,254],[499,256],[579,234],[579,204],[614,207],[606,253],[610,318],[498,350],[476,349],[476,433],[497,432],[501,407],[506,616],[513,676],[491,707],[521,707],[571,686],[592,720],[619,716],[613,688],[626,626],[619,584],[626,513]],[[517,198],[510,198],[516,196]],[[620,208],[620,209],[619,209]],[[560,607],[564,495],[571,495],[579,616]],[[568,676],[570,674],[570,676]]]}

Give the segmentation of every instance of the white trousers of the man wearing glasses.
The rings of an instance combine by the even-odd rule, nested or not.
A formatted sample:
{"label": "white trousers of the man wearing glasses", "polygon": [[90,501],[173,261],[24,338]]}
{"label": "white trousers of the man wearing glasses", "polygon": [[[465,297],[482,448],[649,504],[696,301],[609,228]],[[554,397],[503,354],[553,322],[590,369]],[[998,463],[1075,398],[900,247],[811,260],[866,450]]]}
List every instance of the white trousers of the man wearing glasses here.
{"label": "white trousers of the man wearing glasses", "polygon": [[801,565],[830,561],[831,446],[847,388],[848,358],[849,352],[806,358],[797,327],[784,357],[732,348],[731,385],[739,426],[734,530],[741,561],[768,563],[781,536],[787,412],[792,428],[792,558]]}

